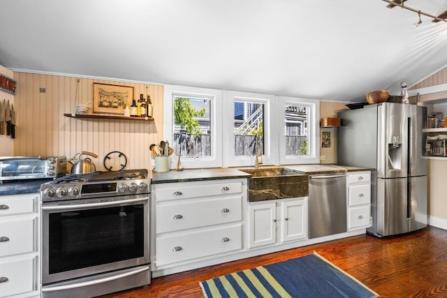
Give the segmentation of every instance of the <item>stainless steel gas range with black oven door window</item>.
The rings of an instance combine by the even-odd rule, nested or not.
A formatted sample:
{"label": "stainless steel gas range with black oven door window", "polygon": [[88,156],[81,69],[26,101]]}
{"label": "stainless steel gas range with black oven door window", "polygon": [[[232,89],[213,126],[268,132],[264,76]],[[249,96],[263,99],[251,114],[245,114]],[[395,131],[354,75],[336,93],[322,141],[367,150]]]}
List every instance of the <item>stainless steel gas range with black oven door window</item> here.
{"label": "stainless steel gas range with black oven door window", "polygon": [[151,282],[147,170],[41,186],[42,297],[95,297]]}

